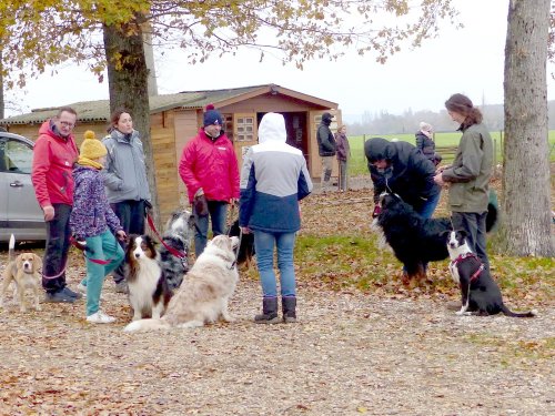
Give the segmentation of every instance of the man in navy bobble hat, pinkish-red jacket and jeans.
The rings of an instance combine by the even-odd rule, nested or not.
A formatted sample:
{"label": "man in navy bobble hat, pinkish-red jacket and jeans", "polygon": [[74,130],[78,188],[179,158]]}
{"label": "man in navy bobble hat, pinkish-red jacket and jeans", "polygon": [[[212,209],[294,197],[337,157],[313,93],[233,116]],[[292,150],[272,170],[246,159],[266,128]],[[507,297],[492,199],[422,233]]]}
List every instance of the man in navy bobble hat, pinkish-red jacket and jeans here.
{"label": "man in navy bobble hat, pinkish-red jacket and jeans", "polygon": [[228,204],[239,199],[239,168],[233,144],[222,131],[222,114],[211,104],[206,110],[204,125],[185,144],[179,164],[179,174],[193,205],[196,257],[206,246],[209,215],[214,236],[224,234]]}

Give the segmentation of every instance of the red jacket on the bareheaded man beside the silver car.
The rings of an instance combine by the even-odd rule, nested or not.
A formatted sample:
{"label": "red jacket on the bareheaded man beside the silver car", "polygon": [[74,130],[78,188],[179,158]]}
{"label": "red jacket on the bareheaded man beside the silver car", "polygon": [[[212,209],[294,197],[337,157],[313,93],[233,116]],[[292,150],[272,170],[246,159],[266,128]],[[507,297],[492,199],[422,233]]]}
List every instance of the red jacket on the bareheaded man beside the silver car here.
{"label": "red jacket on the bareheaded man beside the silver car", "polygon": [[40,206],[73,204],[72,169],[79,156],[72,135],[61,138],[50,126],[50,120],[42,123],[39,139],[33,149],[31,180]]}

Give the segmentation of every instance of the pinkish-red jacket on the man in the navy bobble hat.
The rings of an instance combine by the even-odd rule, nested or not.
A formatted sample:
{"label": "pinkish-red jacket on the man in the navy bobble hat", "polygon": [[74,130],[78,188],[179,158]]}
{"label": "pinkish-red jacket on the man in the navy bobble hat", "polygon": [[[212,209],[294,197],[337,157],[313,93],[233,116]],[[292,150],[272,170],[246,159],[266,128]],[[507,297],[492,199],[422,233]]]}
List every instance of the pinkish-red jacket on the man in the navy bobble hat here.
{"label": "pinkish-red jacket on the man in the navy bobble hat", "polygon": [[191,203],[199,187],[208,201],[239,199],[238,159],[233,144],[223,133],[212,141],[201,129],[183,148],[179,174]]}

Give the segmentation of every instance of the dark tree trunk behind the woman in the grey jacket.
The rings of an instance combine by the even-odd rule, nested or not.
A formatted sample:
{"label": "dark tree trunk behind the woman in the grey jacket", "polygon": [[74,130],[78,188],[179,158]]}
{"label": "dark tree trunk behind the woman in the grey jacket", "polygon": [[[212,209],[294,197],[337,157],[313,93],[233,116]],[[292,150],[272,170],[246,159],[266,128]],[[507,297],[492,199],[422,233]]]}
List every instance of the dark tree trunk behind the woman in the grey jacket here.
{"label": "dark tree trunk behind the woman in the grey jacket", "polygon": [[104,50],[108,61],[110,111],[123,106],[131,112],[133,126],[141,134],[147,175],[152,195],[153,217],[160,229],[157,179],[150,136],[149,70],[141,32],[142,17],[123,27],[104,26]]}

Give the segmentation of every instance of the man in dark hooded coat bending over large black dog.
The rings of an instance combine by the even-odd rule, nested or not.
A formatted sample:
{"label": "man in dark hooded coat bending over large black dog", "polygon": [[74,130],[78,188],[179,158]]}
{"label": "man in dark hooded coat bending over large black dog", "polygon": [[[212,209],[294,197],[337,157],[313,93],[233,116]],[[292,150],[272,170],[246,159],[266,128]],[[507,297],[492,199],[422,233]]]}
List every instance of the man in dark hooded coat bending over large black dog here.
{"label": "man in dark hooded coat bending over large black dog", "polygon": [[400,195],[423,217],[430,219],[440,202],[435,166],[414,145],[374,138],[364,143],[374,195],[384,191]]}

